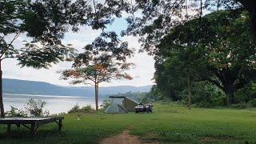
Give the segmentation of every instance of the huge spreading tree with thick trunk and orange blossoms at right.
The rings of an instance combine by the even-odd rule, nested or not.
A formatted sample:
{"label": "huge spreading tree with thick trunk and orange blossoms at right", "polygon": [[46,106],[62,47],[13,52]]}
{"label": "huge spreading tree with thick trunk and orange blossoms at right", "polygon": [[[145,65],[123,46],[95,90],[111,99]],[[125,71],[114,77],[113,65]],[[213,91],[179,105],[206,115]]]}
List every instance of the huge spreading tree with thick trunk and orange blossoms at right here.
{"label": "huge spreading tree with thick trunk and orange blossoms at right", "polygon": [[[201,20],[204,24],[198,26]],[[187,49],[190,45],[201,50],[207,71],[201,77],[223,90],[227,104],[232,104],[234,92],[256,76],[256,42],[248,22],[248,14],[242,10],[208,14],[170,30],[164,41],[166,47],[159,47],[159,51],[168,58],[166,51]]]}

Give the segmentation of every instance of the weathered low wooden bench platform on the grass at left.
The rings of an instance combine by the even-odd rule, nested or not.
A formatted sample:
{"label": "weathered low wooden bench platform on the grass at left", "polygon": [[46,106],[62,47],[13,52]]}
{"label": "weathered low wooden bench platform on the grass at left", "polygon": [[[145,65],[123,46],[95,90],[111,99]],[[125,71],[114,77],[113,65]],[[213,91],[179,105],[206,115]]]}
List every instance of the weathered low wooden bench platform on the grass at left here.
{"label": "weathered low wooden bench platform on the grass at left", "polygon": [[30,134],[34,136],[38,130],[38,126],[45,125],[50,122],[56,122],[58,124],[58,132],[62,130],[62,120],[64,117],[54,118],[0,118],[0,124],[7,125],[7,134],[10,135],[10,126],[16,125],[18,127],[25,126],[30,130]]}

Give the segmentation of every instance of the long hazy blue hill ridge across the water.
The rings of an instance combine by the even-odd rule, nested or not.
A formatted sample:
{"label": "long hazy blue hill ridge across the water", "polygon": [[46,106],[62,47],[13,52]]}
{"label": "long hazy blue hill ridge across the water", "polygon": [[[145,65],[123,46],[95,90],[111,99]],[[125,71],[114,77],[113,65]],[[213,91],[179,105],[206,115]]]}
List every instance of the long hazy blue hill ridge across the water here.
{"label": "long hazy blue hill ridge across the water", "polygon": [[[151,86],[109,86],[100,87],[100,95],[126,92],[148,92]],[[47,82],[3,78],[3,92],[8,94],[38,94],[63,96],[94,96],[93,86],[56,86]]]}

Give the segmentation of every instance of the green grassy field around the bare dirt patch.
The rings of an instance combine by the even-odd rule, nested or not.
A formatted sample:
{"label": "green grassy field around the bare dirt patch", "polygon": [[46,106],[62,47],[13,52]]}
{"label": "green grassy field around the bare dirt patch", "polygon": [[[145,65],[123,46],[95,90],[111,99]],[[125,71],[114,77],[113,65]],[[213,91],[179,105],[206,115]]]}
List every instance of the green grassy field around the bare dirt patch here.
{"label": "green grassy field around the bare dirt patch", "polygon": [[6,138],[6,126],[0,126],[0,143],[98,143],[122,130],[146,142],[256,142],[256,110],[187,110],[157,103],[153,114],[66,114],[63,125],[62,134],[56,134],[56,124],[41,126],[33,139],[29,130],[15,126]]}

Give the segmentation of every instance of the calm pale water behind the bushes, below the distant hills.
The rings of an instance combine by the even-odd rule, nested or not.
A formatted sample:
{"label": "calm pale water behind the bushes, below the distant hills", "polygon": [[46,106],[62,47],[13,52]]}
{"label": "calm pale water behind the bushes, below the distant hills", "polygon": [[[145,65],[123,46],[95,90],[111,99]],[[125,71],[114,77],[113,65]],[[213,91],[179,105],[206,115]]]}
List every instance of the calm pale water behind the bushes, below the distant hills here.
{"label": "calm pale water behind the bushes, below the distant hills", "polygon": [[[94,97],[75,97],[75,96],[54,96],[54,95],[30,95],[30,94],[3,94],[3,101],[5,111],[10,110],[10,106],[23,108],[26,103],[34,98],[36,100],[42,100],[46,102],[46,110],[50,111],[50,114],[58,114],[67,112],[74,105],[78,103],[78,106],[94,106]],[[101,103],[102,101],[100,101]]]}

